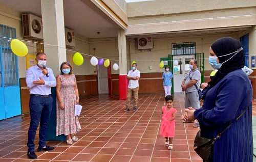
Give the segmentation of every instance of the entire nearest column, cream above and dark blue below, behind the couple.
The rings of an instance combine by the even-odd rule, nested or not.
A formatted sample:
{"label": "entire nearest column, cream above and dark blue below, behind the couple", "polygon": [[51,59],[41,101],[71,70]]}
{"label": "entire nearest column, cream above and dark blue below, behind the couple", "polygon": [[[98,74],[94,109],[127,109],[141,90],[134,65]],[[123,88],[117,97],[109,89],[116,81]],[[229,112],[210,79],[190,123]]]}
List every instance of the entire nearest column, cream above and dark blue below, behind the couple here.
{"label": "entire nearest column, cream above and dark blue below, behind the couple", "polygon": [[[44,32],[45,53],[47,56],[46,67],[53,70],[54,76],[60,72],[59,67],[67,60],[63,0],[41,0],[42,25]],[[49,45],[47,45],[49,44]],[[52,97],[56,98],[56,89],[52,88]],[[56,102],[52,103],[52,112],[47,129],[47,141],[65,141],[66,136],[56,136]]]}

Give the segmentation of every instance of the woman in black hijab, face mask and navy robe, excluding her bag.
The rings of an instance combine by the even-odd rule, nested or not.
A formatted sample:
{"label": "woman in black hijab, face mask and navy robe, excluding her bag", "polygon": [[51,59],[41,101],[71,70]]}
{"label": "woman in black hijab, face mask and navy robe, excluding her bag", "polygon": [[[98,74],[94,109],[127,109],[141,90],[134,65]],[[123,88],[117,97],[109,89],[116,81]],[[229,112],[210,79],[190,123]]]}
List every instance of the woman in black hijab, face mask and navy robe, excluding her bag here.
{"label": "woman in black hijab, face mask and navy robe, excluding her bag", "polygon": [[[217,62],[217,57],[219,63]],[[214,143],[210,161],[252,161],[252,87],[242,68],[245,54],[240,41],[224,37],[210,46],[209,63],[219,70],[204,90],[202,109],[185,110],[183,120],[197,119],[201,136],[215,138],[245,112]],[[215,67],[216,68],[216,67]]]}

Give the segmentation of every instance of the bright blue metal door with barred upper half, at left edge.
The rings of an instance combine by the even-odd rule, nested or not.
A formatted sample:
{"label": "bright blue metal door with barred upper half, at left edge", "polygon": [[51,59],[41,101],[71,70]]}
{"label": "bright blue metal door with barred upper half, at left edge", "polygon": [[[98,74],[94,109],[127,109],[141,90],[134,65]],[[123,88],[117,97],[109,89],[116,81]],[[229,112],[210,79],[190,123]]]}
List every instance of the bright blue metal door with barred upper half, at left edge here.
{"label": "bright blue metal door with barred upper half, at left edge", "polygon": [[0,24],[0,120],[21,114],[18,60],[9,41],[15,38],[15,28]]}

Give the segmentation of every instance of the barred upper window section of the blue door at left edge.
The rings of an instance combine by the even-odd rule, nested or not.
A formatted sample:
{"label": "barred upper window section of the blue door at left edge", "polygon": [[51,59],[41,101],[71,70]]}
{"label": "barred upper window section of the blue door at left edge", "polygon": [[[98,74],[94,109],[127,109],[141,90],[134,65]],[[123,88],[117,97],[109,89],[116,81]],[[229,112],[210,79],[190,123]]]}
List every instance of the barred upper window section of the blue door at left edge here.
{"label": "barred upper window section of the blue door at left edge", "polygon": [[18,86],[18,60],[11,50],[16,29],[0,24],[0,87]]}

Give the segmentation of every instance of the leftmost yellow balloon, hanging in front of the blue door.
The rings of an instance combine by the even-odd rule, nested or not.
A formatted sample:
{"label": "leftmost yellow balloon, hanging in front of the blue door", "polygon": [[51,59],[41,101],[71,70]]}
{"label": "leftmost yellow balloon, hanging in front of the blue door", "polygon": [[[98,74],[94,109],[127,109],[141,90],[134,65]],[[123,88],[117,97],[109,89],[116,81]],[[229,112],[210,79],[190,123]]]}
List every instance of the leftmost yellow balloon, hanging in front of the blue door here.
{"label": "leftmost yellow balloon, hanging in front of the blue door", "polygon": [[11,40],[12,52],[20,57],[26,56],[28,54],[28,47],[22,41],[17,39]]}

